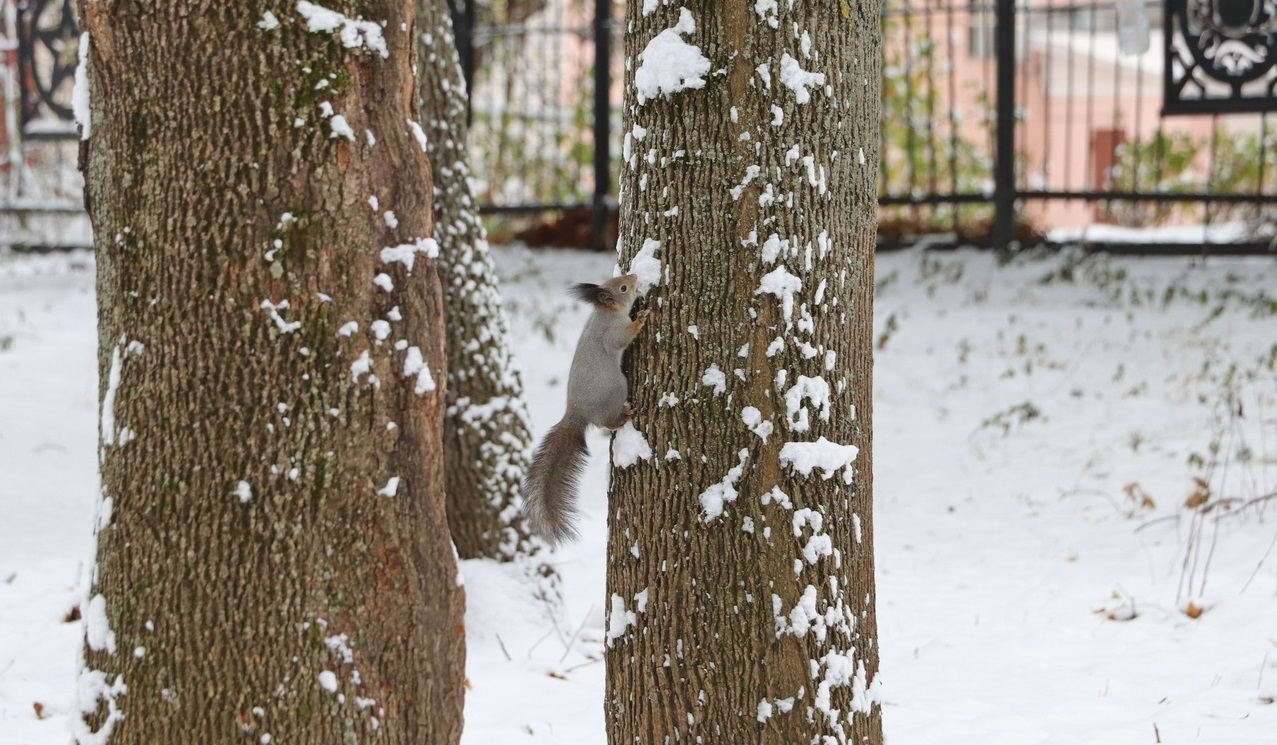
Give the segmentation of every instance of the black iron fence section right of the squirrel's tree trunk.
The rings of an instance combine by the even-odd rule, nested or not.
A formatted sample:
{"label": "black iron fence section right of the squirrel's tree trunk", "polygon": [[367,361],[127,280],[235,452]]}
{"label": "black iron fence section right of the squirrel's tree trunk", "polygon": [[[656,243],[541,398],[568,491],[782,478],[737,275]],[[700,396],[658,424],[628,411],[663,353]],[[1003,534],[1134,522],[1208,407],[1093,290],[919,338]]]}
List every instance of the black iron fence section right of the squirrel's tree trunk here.
{"label": "black iron fence section right of the squirrel's tree trunk", "polygon": [[[1200,19],[1214,13],[1200,8],[1231,0],[1188,1],[1199,3]],[[884,233],[948,231],[995,245],[1089,233],[1162,248],[1267,249],[1277,224],[1272,64],[1248,69],[1246,106],[1221,95],[1230,70],[1277,60],[1277,6],[1255,3],[1236,31],[1250,46],[1230,47],[1216,23],[1216,47],[1203,52],[1200,36],[1181,33],[1199,23],[1181,26],[1185,0],[890,1]],[[1193,84],[1180,84],[1197,88],[1202,115],[1172,116],[1185,109],[1163,101],[1167,81],[1183,77],[1183,60],[1204,58],[1223,64],[1197,65]]]}

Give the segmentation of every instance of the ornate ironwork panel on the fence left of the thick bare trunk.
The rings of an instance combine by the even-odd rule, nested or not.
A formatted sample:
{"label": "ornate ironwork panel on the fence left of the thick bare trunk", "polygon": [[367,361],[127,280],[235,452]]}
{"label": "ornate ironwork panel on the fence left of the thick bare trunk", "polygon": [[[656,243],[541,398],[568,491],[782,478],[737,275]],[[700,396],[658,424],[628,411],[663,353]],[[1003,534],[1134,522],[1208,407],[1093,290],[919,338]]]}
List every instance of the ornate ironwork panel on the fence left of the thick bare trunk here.
{"label": "ornate ironwork panel on the fence left of the thick bare trunk", "polygon": [[18,74],[27,137],[74,137],[72,91],[79,55],[74,0],[18,4]]}

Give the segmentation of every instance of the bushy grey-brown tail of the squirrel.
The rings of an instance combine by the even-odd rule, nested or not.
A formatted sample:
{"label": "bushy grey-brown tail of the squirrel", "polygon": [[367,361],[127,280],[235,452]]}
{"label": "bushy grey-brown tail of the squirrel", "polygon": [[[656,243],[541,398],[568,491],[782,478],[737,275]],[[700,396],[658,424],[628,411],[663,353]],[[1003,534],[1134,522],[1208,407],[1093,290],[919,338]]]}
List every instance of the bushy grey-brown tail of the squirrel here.
{"label": "bushy grey-brown tail of the squirrel", "polygon": [[576,484],[590,455],[585,427],[567,417],[552,427],[524,479],[524,510],[533,529],[550,544],[576,537]]}

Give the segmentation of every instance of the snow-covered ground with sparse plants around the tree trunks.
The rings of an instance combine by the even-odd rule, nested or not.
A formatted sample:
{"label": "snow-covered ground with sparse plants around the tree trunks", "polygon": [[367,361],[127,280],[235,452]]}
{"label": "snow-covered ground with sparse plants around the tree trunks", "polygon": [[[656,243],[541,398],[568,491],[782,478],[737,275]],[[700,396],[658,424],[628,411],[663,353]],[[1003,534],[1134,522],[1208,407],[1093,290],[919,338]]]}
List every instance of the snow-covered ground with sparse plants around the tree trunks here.
{"label": "snow-covered ground with sparse plants around the tree trunks", "polygon": [[[613,262],[497,259],[544,431],[586,312],[566,286]],[[888,741],[1277,742],[1277,497],[1255,502],[1277,492],[1277,262],[907,252],[877,282]],[[91,258],[0,256],[3,745],[68,741],[93,314]],[[590,446],[559,608],[465,562],[465,745],[604,742],[607,438]]]}

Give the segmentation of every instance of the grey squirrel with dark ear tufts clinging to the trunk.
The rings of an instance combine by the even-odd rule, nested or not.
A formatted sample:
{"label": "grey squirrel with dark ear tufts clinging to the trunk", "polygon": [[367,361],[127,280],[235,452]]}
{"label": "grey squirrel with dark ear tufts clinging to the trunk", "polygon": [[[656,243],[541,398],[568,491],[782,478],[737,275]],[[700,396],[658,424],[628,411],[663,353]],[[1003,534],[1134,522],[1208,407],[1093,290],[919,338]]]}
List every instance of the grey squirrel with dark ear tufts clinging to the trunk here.
{"label": "grey squirrel with dark ear tufts clinging to the trunk", "polygon": [[633,415],[626,392],[621,354],[647,321],[630,309],[638,295],[637,275],[613,277],[601,285],[572,285],[578,300],[594,305],[576,342],[567,376],[567,411],[536,446],[524,479],[524,505],[533,529],[550,546],[575,538],[576,486],[590,450],[585,431],[590,424],[617,429]]}

